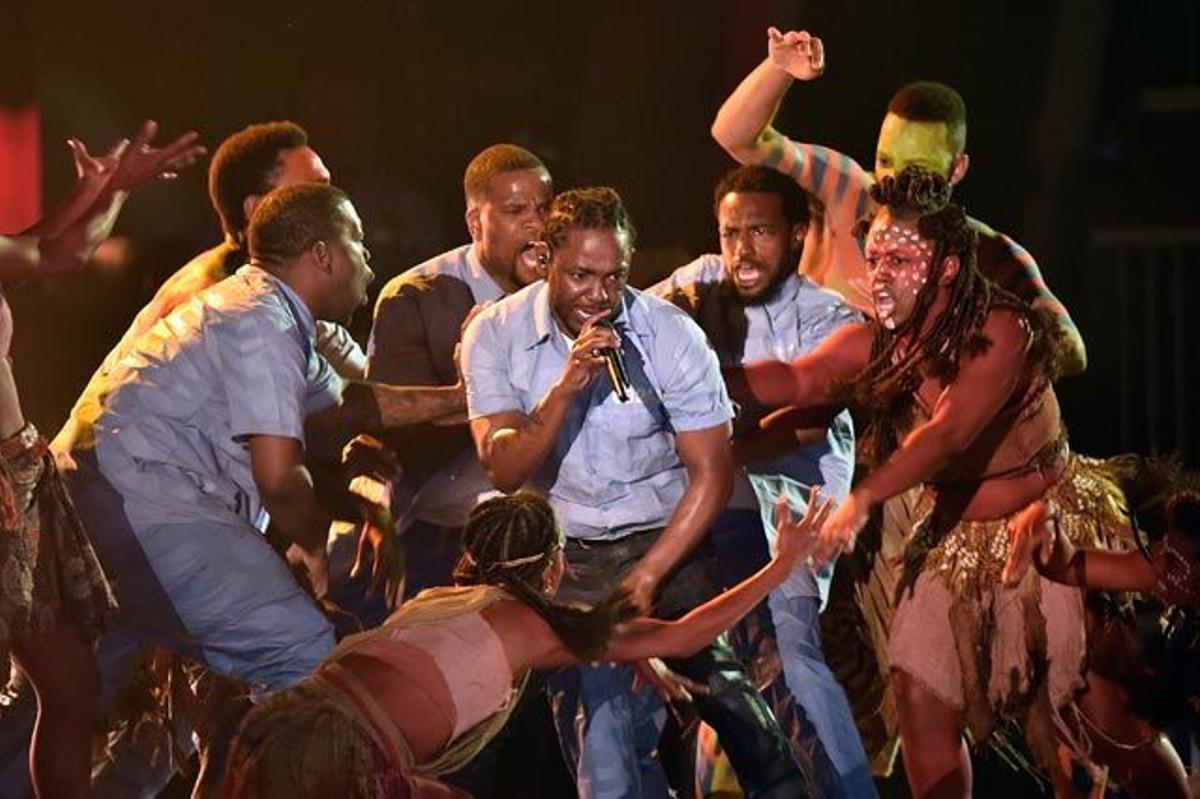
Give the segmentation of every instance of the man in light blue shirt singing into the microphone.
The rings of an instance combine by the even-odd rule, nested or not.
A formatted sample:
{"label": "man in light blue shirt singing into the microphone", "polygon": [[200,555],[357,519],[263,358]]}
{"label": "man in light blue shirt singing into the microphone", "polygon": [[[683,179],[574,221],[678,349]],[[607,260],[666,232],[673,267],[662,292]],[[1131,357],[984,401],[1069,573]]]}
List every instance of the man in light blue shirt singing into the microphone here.
{"label": "man in light blue shirt singing into the microphone", "polygon": [[[625,286],[634,226],[613,190],[557,197],[542,239],[546,280],[481,312],[463,338],[480,461],[502,491],[550,498],[566,533],[560,600],[595,603],[620,584],[641,609],[680,615],[716,593],[702,540],[732,485],[716,356],[683,312]],[[623,360],[626,402],[608,350]],[[697,708],[751,795],[806,793],[724,639],[672,667],[708,687]],[[653,755],[660,709],[632,691],[628,668],[572,669],[553,683],[582,797],[667,795]]]}

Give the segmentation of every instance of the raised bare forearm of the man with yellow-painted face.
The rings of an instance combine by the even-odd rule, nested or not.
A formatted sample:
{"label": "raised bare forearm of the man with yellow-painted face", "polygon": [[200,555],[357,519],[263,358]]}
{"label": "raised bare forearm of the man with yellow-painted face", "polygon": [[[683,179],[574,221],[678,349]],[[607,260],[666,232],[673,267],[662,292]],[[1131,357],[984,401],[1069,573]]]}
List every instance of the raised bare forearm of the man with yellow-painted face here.
{"label": "raised bare forearm of the man with yellow-painted face", "polygon": [[733,90],[713,121],[713,138],[742,163],[761,161],[778,140],[770,127],[792,77],[766,59]]}

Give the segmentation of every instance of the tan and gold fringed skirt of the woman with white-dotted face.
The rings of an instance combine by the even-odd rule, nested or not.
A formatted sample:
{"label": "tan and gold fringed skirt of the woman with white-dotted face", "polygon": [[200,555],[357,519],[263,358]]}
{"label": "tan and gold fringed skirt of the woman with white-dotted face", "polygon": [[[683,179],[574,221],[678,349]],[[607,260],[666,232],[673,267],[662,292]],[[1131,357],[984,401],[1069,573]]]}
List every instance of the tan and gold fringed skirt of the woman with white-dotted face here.
{"label": "tan and gold fringed skirt of the woman with white-dotted face", "polygon": [[[899,740],[887,685],[892,669],[962,710],[977,743],[989,739],[997,715],[1021,721],[1032,753],[1048,765],[1056,747],[1055,711],[1082,685],[1082,591],[1032,569],[1019,585],[1004,588],[1010,517],[947,524],[937,517],[934,488],[906,498],[910,503],[888,509],[894,517],[883,522],[880,551],[856,587],[866,627],[858,637],[874,648],[876,662],[856,679],[865,685],[874,673],[880,681],[868,691],[874,707],[856,708],[872,733],[872,767],[888,773]],[[1112,547],[1117,542],[1105,530],[1128,529],[1123,495],[1104,461],[1070,455],[1044,499],[1078,546]],[[901,517],[913,533],[896,557]]]}

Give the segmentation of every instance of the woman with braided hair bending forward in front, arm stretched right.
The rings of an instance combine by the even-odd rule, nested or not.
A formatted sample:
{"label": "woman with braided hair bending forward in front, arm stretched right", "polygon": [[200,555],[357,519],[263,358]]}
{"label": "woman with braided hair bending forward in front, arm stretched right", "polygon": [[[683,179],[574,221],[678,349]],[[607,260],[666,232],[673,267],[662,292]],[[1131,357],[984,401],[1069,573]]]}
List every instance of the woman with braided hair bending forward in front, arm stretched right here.
{"label": "woman with braided hair bending forward in front, arm stretched right", "polygon": [[564,561],[550,505],[528,493],[490,499],[463,530],[457,587],[422,591],[251,711],[229,758],[227,795],[460,795],[426,777],[461,768],[499,732],[530,669],[697,651],[811,553],[828,507],[814,497],[796,522],[780,504],[770,564],[661,621],[628,620],[631,605],[619,595],[595,608],[552,602]]}

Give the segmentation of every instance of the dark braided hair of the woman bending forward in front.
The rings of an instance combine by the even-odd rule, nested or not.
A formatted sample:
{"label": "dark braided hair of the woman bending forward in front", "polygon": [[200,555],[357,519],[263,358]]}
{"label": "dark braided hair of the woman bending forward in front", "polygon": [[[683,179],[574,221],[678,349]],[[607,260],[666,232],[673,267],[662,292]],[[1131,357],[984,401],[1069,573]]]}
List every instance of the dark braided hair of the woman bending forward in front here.
{"label": "dark braided hair of the woman bending forward in front", "polygon": [[497,497],[470,512],[456,583],[498,585],[528,605],[581,660],[595,660],[613,627],[632,615],[624,595],[595,607],[560,605],[541,591],[546,566],[563,548],[563,534],[550,504],[528,492]]}

